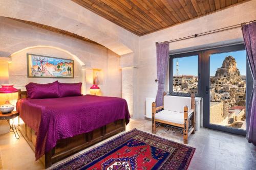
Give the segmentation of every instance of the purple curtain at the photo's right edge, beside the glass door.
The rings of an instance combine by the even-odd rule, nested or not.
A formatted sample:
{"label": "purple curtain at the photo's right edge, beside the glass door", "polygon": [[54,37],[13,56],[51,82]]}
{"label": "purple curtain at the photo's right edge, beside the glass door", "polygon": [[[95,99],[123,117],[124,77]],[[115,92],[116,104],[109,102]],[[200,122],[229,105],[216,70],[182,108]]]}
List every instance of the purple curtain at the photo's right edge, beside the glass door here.
{"label": "purple curtain at the photo's right edge, beside the glass door", "polygon": [[246,117],[246,137],[249,143],[256,145],[256,22],[243,25],[242,32],[253,77],[253,90]]}

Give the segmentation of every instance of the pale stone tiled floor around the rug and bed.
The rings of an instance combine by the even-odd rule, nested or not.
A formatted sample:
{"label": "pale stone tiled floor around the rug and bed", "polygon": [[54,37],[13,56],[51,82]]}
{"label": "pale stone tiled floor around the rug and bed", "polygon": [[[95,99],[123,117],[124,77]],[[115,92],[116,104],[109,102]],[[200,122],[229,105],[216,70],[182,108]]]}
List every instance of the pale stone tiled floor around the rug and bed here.
{"label": "pale stone tiled floor around the rug and bed", "polygon": [[[131,119],[130,124],[126,127],[126,131],[133,128],[151,133],[151,122],[144,119]],[[171,134],[165,132],[163,128],[158,128],[156,135],[183,143],[182,135],[179,132]],[[190,136],[188,145],[196,148],[196,153],[189,169],[256,169],[256,147],[248,143],[243,136],[201,128],[195,135]],[[0,149],[4,169],[43,168],[39,161],[35,161],[34,153],[23,137],[17,140],[12,133],[0,135]],[[63,161],[87,150],[81,151]]]}

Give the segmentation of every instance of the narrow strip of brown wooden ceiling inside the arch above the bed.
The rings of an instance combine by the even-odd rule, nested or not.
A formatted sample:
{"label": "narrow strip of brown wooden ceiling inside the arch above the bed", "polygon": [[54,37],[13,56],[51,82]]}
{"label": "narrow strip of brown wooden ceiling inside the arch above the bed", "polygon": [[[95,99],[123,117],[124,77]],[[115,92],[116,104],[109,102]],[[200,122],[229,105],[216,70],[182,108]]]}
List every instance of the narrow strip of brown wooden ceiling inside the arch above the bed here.
{"label": "narrow strip of brown wooden ceiling inside the arch above the bed", "polygon": [[[27,23],[29,25],[36,26],[36,27],[39,27],[39,28],[42,28],[42,29],[45,29],[45,30],[49,30],[49,31],[52,31],[52,32],[55,32],[55,33],[60,33],[60,34],[66,35],[66,36],[70,36],[70,37],[73,37],[73,38],[76,38],[76,39],[80,39],[82,41],[87,41],[87,42],[90,42],[90,43],[101,45],[101,44],[99,44],[95,41],[92,41],[92,40],[88,39],[88,38],[85,38],[85,37],[82,37],[80,35],[77,35],[77,34],[74,34],[74,33],[71,33],[71,32],[65,31],[65,30],[61,30],[61,29],[58,29],[58,28],[55,28],[55,27],[46,26],[46,25],[42,25],[40,23],[31,22],[31,21],[27,21],[27,20],[16,19],[16,18],[10,18],[10,19],[13,19],[13,20],[16,20],[16,21],[19,21],[19,22],[23,22],[23,23]],[[103,46],[103,45],[101,45],[101,46]]]}

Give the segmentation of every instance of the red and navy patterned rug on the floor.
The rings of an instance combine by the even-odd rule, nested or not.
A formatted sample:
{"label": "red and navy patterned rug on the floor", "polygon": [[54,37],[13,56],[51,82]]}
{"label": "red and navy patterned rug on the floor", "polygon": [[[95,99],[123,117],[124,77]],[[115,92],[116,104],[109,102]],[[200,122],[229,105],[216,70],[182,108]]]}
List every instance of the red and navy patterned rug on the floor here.
{"label": "red and navy patterned rug on the floor", "polygon": [[187,169],[195,150],[133,129],[53,169]]}

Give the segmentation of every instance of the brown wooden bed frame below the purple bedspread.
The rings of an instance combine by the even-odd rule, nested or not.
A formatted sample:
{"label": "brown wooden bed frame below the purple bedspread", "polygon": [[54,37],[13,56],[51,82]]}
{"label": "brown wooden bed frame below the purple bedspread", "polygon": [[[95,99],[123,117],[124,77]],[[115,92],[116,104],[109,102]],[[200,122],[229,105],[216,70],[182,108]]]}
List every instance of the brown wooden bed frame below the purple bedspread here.
{"label": "brown wooden bed frame below the purple bedspread", "polygon": [[[26,91],[18,92],[19,98],[27,98]],[[26,123],[19,124],[20,133],[27,140],[28,144],[35,151],[36,134],[35,131],[27,126]],[[40,158],[45,168],[50,167],[53,163],[62,160],[74,153],[90,147],[106,138],[125,131],[125,119],[116,120],[113,123],[102,126],[88,133],[76,135],[74,137],[60,139],[57,145],[48,153]]]}

